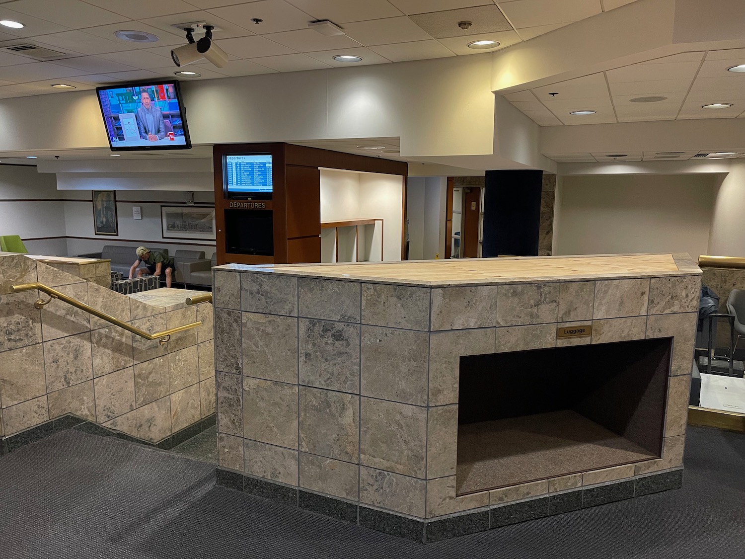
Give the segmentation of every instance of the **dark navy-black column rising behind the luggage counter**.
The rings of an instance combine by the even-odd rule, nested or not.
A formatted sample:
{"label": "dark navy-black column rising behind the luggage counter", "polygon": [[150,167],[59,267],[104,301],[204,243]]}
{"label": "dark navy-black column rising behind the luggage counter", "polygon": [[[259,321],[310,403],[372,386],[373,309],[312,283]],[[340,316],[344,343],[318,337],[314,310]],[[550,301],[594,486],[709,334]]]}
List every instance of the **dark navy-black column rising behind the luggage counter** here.
{"label": "dark navy-black column rising behind the luggage counter", "polygon": [[486,171],[481,256],[538,256],[543,171]]}

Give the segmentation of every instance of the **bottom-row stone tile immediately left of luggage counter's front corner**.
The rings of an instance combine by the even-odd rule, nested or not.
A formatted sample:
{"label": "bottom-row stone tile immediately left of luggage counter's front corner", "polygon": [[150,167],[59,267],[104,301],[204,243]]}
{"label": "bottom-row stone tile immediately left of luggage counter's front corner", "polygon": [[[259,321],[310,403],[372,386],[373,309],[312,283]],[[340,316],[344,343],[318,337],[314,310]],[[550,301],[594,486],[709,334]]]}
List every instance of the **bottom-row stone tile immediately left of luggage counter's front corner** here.
{"label": "bottom-row stone tile immediately left of luggage counter's front corner", "polygon": [[423,479],[360,467],[360,502],[367,505],[423,518],[426,493]]}

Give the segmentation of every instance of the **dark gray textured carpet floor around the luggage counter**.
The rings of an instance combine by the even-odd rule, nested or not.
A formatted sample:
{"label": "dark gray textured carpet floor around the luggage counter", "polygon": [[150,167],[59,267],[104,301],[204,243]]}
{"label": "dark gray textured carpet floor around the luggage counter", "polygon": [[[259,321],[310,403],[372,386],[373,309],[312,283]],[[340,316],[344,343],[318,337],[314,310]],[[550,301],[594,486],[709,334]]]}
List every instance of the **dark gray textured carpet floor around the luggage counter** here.
{"label": "dark gray textured carpet floor around the luggage counter", "polygon": [[67,431],[0,457],[0,558],[745,557],[745,436],[690,429],[684,488],[423,546],[214,485],[214,466]]}

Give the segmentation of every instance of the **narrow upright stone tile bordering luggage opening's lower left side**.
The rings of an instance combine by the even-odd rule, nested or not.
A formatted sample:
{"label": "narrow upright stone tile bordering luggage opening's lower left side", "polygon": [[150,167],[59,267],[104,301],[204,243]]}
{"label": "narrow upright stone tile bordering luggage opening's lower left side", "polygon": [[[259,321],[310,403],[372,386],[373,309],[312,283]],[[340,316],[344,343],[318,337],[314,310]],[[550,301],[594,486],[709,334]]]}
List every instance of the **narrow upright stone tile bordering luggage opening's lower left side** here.
{"label": "narrow upright stone tile bordering luggage opening's lower left side", "polygon": [[427,479],[454,476],[457,465],[458,406],[427,410]]}

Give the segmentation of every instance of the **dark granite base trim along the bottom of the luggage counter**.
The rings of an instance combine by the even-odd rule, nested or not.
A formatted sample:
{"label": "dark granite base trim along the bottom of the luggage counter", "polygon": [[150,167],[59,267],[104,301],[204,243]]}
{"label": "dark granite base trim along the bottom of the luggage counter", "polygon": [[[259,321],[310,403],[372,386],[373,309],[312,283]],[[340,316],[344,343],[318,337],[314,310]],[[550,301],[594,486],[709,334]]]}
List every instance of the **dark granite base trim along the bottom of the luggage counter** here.
{"label": "dark granite base trim along the bottom of the luggage counter", "polygon": [[518,522],[579,511],[581,508],[605,505],[668,489],[679,489],[682,487],[683,470],[666,470],[635,479],[611,481],[595,487],[578,487],[563,493],[542,495],[535,499],[426,520],[357,505],[336,497],[311,493],[299,487],[254,478],[220,467],[217,469],[216,480],[218,485],[244,491],[261,499],[299,507],[407,540],[434,543]]}

